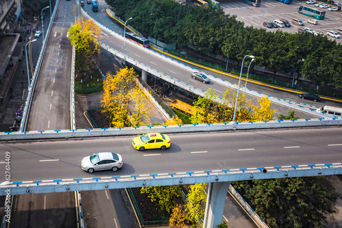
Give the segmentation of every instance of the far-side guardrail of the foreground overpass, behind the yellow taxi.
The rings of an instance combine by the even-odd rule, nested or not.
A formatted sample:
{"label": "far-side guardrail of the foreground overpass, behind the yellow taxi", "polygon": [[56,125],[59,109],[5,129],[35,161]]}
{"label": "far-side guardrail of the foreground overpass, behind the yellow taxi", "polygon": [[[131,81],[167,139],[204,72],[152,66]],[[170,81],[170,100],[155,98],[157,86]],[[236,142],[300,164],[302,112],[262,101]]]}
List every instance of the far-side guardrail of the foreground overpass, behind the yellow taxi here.
{"label": "far-side guardrail of the foreground overpass, behind the yellow taxi", "polygon": [[227,130],[261,130],[272,128],[298,128],[317,126],[341,126],[342,118],[289,119],[209,124],[179,124],[163,126],[136,126],[126,128],[87,128],[70,130],[34,130],[23,132],[0,132],[0,141],[71,139],[77,137],[112,137],[118,135],[136,135],[149,132],[181,133],[210,132]]}

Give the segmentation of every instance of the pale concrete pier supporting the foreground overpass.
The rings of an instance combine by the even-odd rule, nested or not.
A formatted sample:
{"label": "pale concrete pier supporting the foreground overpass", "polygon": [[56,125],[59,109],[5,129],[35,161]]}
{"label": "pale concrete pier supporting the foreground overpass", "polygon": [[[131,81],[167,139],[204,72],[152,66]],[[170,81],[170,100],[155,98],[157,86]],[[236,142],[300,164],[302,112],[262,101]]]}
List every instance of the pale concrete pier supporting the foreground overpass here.
{"label": "pale concrete pier supporting the foreground overpass", "polygon": [[222,223],[224,201],[226,201],[229,185],[231,185],[231,182],[209,183],[203,228],[215,228]]}

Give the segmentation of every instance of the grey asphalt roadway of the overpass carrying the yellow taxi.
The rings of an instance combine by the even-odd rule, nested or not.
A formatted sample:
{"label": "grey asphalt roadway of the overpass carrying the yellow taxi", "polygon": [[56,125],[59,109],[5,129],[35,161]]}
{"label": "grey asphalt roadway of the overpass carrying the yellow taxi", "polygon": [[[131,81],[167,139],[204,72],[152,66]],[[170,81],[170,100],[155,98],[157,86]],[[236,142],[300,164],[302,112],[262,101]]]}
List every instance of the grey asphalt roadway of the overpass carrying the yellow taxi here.
{"label": "grey asphalt roadway of the overpass carrying the yellow taxi", "polygon": [[[340,128],[170,134],[170,138],[171,147],[165,151],[150,149],[145,152],[133,149],[133,137],[5,143],[0,145],[0,161],[4,160],[5,151],[11,152],[11,180],[14,182],[308,165],[342,160],[342,146],[338,145],[342,141]],[[106,151],[122,155],[122,169],[116,173],[98,171],[92,174],[81,169],[84,156]],[[40,161],[54,159],[59,160]],[[3,164],[0,167],[5,171]]]}

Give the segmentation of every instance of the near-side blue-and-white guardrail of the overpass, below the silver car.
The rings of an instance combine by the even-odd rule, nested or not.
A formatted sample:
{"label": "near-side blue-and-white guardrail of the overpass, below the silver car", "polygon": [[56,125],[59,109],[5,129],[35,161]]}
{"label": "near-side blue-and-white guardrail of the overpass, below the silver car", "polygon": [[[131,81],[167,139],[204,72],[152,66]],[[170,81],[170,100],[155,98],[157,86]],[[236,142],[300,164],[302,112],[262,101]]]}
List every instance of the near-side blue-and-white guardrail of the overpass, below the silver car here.
{"label": "near-side blue-and-white guardrail of the overpass, below the silver car", "polygon": [[[154,173],[143,175],[122,175],[106,177],[87,177],[60,180],[34,180],[26,182],[3,182],[0,195],[10,188],[12,195],[26,193],[98,190],[107,188],[136,188],[141,186],[160,186],[194,184],[202,182],[231,182],[235,180],[269,179],[280,177],[306,177],[317,175],[337,175],[342,173],[342,163],[317,165],[289,165],[278,167],[254,167],[241,169],[220,169],[213,171],[188,171],[179,173]],[[167,182],[167,183],[166,183]],[[90,184],[82,188],[82,184]],[[55,188],[51,191],[52,188]],[[66,187],[66,188],[65,188]]]}

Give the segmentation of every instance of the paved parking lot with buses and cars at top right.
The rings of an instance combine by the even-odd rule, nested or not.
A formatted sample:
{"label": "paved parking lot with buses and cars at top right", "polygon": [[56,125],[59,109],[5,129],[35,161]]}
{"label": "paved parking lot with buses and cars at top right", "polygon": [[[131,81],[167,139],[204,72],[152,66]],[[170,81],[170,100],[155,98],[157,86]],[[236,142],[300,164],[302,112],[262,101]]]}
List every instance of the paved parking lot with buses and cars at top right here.
{"label": "paved parking lot with buses and cars at top right", "polygon": [[[305,2],[306,1],[293,0],[291,5],[287,5],[276,0],[261,0],[261,7],[254,7],[244,3],[244,0],[239,0],[220,2],[220,5],[226,14],[237,15],[237,20],[243,21],[245,26],[267,29],[266,27],[263,27],[264,21],[273,22],[275,19],[283,18],[291,23],[292,18],[295,18],[302,20],[304,26],[293,25],[291,23],[291,27],[281,28],[281,30],[295,33],[298,31],[298,27],[309,27],[316,32],[326,34],[328,30],[337,31],[337,29],[342,28],[342,10],[334,12],[319,8],[319,10],[326,11],[324,20],[319,20],[318,25],[307,23],[311,18],[298,13],[298,8],[300,5],[306,5]],[[340,2],[340,5],[342,5],[342,1]],[[308,6],[315,8],[313,5]],[[276,31],[276,29],[267,29],[267,31]],[[330,40],[342,42],[342,39],[335,39],[329,36],[328,38]]]}

